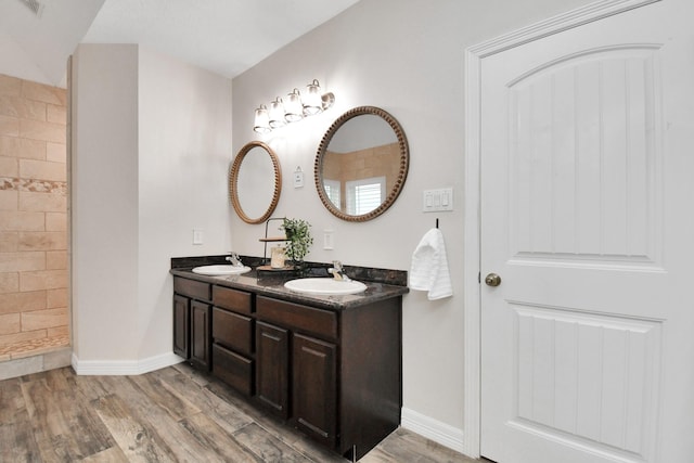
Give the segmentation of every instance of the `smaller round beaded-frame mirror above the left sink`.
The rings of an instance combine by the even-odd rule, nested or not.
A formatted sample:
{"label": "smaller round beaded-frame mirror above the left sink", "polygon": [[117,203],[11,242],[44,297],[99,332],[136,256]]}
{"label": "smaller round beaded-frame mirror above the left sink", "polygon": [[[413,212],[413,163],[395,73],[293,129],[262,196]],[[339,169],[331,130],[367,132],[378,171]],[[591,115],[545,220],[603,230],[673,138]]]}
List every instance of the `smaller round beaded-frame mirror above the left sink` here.
{"label": "smaller round beaded-frame mirror above the left sink", "polygon": [[229,170],[229,197],[246,223],[265,222],[278,205],[282,170],[274,151],[261,141],[245,144]]}

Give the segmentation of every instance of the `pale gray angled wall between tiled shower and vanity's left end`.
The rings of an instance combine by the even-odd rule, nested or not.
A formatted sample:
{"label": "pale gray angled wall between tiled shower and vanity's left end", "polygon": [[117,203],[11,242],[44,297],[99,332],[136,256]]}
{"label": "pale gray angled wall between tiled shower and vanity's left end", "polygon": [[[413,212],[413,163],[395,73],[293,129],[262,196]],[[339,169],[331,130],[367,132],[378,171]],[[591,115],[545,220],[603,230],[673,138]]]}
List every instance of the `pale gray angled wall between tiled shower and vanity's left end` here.
{"label": "pale gray angled wall between tiled shower and vanity's left end", "polygon": [[231,81],[133,44],[73,64],[73,365],[141,373],[178,359],[170,258],[231,246]]}

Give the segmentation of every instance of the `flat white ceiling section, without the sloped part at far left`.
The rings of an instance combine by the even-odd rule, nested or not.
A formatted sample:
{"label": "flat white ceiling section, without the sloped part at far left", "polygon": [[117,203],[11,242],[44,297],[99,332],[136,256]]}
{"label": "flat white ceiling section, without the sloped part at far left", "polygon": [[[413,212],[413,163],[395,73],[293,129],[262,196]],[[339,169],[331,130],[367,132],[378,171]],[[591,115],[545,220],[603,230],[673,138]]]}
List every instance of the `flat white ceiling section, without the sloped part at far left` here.
{"label": "flat white ceiling section, without the sloped part at far left", "polygon": [[140,43],[234,77],[358,0],[106,0],[82,42]]}

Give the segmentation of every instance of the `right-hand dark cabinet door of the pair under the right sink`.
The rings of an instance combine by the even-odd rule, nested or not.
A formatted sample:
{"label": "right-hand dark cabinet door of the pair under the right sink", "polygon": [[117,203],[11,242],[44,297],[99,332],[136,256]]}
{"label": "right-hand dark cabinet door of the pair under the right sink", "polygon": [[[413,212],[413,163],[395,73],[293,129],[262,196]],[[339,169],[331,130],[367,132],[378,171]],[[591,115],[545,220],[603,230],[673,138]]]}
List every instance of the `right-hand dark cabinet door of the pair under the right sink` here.
{"label": "right-hand dark cabinet door of the pair under the right sink", "polygon": [[293,422],[331,448],[336,427],[336,347],[299,334],[293,339]]}

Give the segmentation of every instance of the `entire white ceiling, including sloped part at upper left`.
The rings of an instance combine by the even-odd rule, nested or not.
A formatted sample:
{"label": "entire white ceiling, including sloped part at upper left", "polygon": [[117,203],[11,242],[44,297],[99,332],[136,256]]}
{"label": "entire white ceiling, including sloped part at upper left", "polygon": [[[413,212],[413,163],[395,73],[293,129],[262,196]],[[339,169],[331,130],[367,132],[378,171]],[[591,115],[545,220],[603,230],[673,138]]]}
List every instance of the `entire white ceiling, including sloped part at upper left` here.
{"label": "entire white ceiling, including sloped part at upper left", "polygon": [[232,78],[357,1],[39,0],[36,16],[0,0],[0,57],[21,50],[57,85],[78,43],[139,43]]}

